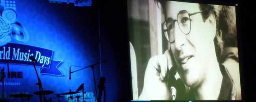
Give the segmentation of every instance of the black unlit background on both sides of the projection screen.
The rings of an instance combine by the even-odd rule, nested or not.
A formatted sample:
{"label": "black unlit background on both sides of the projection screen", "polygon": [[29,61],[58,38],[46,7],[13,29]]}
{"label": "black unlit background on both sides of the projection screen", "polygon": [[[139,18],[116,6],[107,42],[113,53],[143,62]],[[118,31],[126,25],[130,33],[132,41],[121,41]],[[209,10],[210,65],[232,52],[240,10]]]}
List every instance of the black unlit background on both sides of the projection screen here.
{"label": "black unlit background on both sides of the projection screen", "polygon": [[[256,8],[254,8],[254,2],[239,0],[207,0],[207,2],[227,4],[237,2],[239,6],[237,13],[238,15],[240,13],[240,18],[237,19],[237,27],[240,34],[238,35],[239,53],[242,53],[239,55],[242,58],[240,67],[242,99],[254,100],[256,93],[254,89],[256,68],[256,60],[254,60],[256,58]],[[92,6],[98,6],[101,59],[108,60],[108,64],[102,66],[102,77],[107,79],[106,100],[107,102],[129,102],[132,96],[126,0],[93,0]]]}

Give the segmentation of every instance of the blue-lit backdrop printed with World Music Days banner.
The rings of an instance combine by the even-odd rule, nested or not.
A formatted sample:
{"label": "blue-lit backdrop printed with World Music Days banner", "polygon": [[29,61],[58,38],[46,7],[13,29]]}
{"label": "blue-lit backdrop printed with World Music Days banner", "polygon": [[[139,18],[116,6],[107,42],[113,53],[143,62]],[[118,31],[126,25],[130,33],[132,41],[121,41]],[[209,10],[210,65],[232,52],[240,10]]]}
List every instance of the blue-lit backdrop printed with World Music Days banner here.
{"label": "blue-lit backdrop printed with World Music Days banner", "polygon": [[[69,0],[68,0],[69,1]],[[76,91],[84,83],[85,99],[95,102],[92,68],[79,70],[100,62],[98,11],[86,4],[88,0],[1,0],[0,6],[0,67],[6,77],[0,82],[0,98],[4,85],[4,100],[21,101],[10,95],[31,94],[39,91],[36,72],[29,56],[34,57],[38,77],[46,95],[53,102],[54,94]],[[85,6],[86,5],[86,6]],[[89,6],[88,6],[89,5]],[[8,63],[7,63],[8,62]],[[7,75],[9,64],[10,76]],[[102,63],[103,64],[103,63]],[[75,65],[75,66],[71,66]],[[69,80],[69,68],[71,74]],[[100,64],[94,67],[96,84],[100,79]],[[72,96],[81,96],[80,93]],[[70,95],[62,95],[68,102]],[[76,102],[77,99],[73,99]],[[79,98],[83,100],[83,98]],[[40,102],[34,95],[30,100]],[[69,99],[71,102],[72,100]]]}

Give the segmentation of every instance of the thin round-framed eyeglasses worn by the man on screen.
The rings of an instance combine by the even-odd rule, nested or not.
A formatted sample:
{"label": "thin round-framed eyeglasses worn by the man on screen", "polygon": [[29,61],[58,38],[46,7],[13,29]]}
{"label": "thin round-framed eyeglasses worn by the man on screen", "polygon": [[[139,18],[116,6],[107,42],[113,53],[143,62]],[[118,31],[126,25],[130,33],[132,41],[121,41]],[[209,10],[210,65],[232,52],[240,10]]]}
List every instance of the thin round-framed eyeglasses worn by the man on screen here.
{"label": "thin round-framed eyeglasses worn by the man on screen", "polygon": [[175,42],[175,36],[174,36],[175,21],[178,21],[179,29],[181,30],[181,32],[183,32],[184,34],[189,34],[191,29],[190,16],[195,15],[197,13],[202,13],[202,12],[203,11],[196,12],[196,13],[188,13],[188,11],[183,10],[178,13],[177,20],[176,19],[174,20],[171,18],[166,19],[166,21],[164,22],[163,28],[164,28],[164,35],[167,38],[167,40],[170,43]]}

